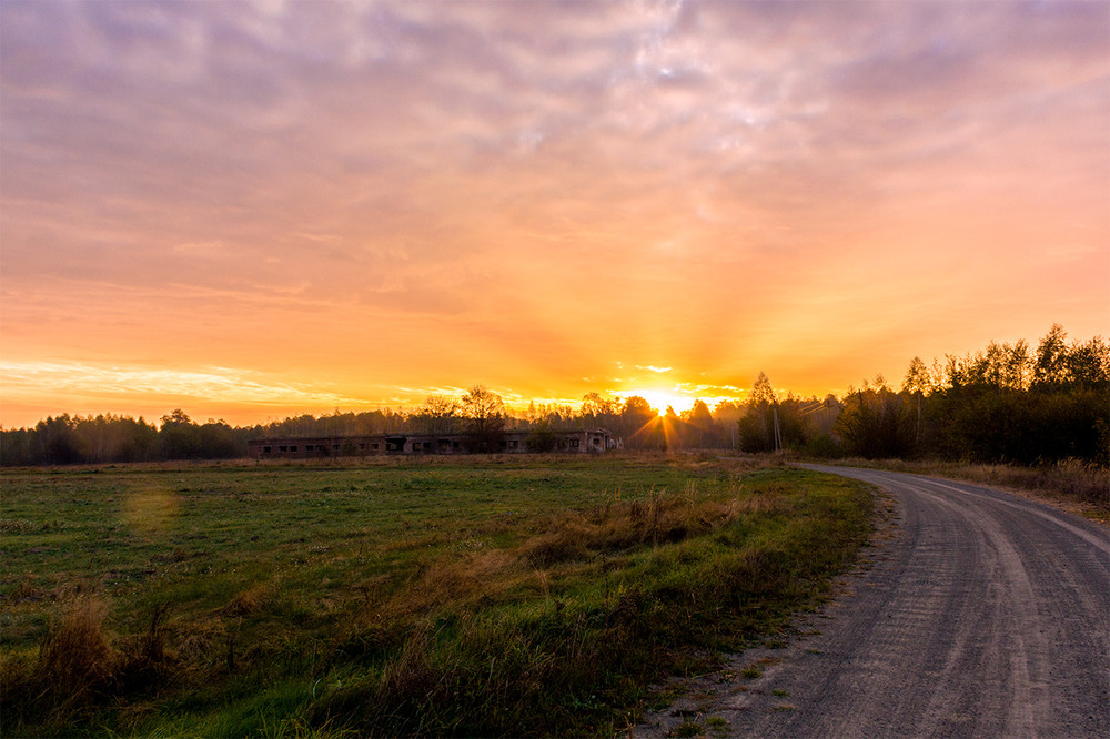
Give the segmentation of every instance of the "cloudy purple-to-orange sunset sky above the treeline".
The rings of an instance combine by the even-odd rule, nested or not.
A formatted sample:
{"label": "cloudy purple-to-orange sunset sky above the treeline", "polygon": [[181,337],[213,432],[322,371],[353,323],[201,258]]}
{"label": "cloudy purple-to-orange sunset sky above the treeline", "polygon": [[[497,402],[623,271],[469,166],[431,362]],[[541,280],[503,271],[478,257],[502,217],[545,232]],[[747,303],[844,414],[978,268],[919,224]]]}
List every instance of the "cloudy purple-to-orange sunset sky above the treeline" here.
{"label": "cloudy purple-to-orange sunset sky above the treeline", "polygon": [[4,427],[1106,336],[1110,4],[2,0],[0,291]]}

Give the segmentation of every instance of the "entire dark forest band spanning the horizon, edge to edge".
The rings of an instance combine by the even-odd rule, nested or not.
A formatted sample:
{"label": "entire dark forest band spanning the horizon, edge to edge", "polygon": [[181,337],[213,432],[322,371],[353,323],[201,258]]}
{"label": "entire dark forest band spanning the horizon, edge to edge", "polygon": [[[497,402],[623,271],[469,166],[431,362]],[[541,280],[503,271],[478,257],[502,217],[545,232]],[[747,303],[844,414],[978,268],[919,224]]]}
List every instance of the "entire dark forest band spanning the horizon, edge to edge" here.
{"label": "entire dark forest band spanning the horizon, edge to edge", "polygon": [[991,342],[927,365],[915,357],[900,389],[880,375],[842,396],[777,393],[760,374],[743,402],[702,401],[660,416],[638,396],[587,394],[578,407],[532,404],[512,414],[475,386],[460,398],[434,395],[412,411],[302,415],[265,425],[203,424],[182,411],[157,423],[129,416],[69,416],[0,431],[0,464],[50,465],[242,457],[246,442],[278,436],[471,433],[531,429],[545,448],[551,432],[602,427],[627,449],[791,449],[836,458],[938,458],[1110,464],[1110,346],[1099,336],[1068,341],[1056,324],[1031,347]]}

